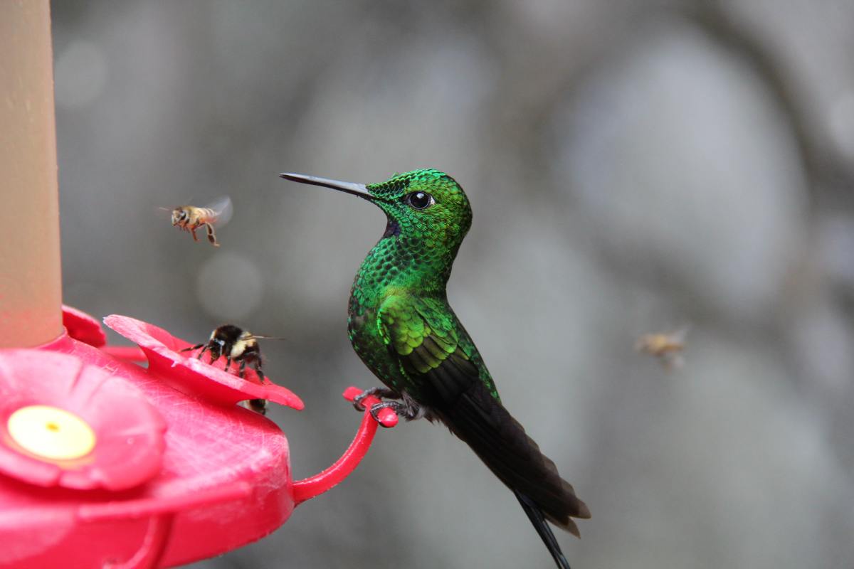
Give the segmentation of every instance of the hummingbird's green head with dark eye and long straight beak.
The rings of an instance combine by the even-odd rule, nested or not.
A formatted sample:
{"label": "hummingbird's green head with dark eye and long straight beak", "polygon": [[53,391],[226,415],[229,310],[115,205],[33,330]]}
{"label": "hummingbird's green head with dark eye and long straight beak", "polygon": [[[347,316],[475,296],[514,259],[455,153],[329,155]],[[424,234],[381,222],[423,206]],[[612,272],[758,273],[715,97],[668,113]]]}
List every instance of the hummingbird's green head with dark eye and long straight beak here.
{"label": "hummingbird's green head with dark eye and long straight beak", "polygon": [[424,169],[395,174],[381,183],[350,183],[304,174],[280,174],[287,180],[310,183],[358,195],[378,206],[389,218],[384,236],[424,240],[428,247],[447,247],[456,253],[471,227],[471,206],[459,184],[445,172]]}

